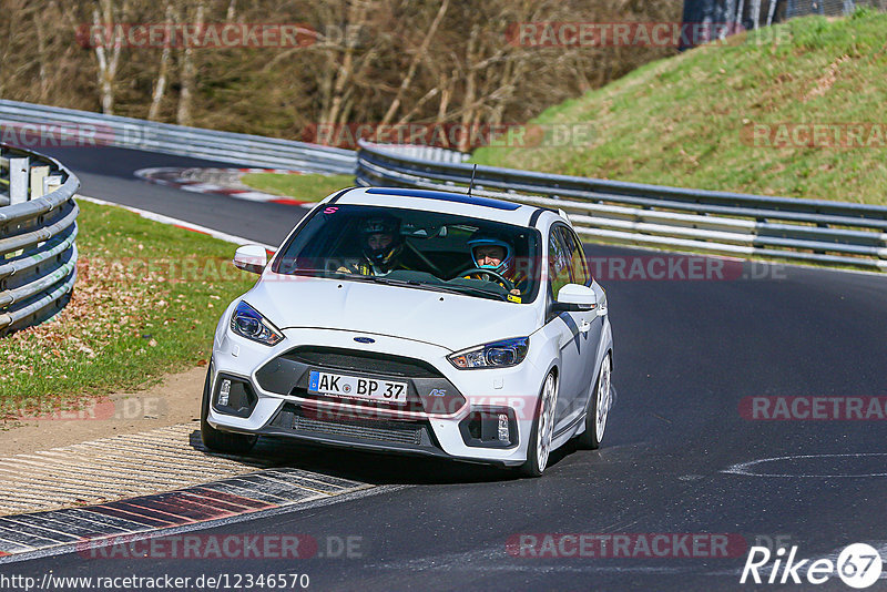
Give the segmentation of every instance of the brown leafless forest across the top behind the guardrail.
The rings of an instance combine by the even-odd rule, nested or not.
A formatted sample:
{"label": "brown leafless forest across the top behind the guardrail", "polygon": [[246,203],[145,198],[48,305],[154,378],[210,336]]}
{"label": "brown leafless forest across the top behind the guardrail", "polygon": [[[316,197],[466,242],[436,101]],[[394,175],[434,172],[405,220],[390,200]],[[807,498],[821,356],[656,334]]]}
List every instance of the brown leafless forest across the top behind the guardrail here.
{"label": "brown leafless forest across the top behind the guardrail", "polygon": [[[318,124],[524,122],[670,48],[522,47],[521,22],[680,21],[676,0],[0,0],[0,98],[304,139]],[[82,31],[300,23],[303,47],[134,47]],[[173,45],[173,47],[171,47]]]}

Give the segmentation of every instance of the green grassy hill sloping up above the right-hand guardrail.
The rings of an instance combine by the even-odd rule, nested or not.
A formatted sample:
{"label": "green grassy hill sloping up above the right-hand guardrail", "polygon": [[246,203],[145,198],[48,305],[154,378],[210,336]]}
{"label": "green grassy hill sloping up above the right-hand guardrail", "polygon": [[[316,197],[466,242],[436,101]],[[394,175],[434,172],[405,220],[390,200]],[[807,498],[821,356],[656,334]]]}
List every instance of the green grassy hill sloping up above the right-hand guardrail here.
{"label": "green grassy hill sloping up above the right-hand guardrail", "polygon": [[[589,123],[593,133],[584,145],[485,147],[473,161],[887,204],[887,133],[878,135],[887,132],[885,31],[887,14],[860,11],[846,19],[796,19],[734,35],[724,44],[644,65],[533,120]],[[869,124],[861,127],[861,137],[849,139],[854,147],[829,146],[835,133],[838,141],[846,140],[849,127],[842,124],[852,123]],[[786,136],[779,134],[791,134],[798,124],[826,124],[830,135],[816,146],[786,146]],[[757,145],[755,125],[773,132],[762,134]],[[869,145],[859,147],[860,141]]]}

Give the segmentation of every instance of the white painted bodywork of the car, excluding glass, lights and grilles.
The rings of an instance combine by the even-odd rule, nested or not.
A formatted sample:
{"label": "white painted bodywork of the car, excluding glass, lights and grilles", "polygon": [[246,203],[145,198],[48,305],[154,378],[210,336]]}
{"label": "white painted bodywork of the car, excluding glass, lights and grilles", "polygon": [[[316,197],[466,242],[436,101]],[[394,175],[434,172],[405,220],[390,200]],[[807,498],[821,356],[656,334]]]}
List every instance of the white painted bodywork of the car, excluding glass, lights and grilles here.
{"label": "white painted bodywork of the car, excluding glass, lights and grilles", "polygon": [[[313,213],[326,208],[332,197],[319,203]],[[532,206],[497,210],[443,200],[371,194],[366,190],[345,193],[336,201],[336,205],[340,204],[435,211],[520,226],[531,226],[531,222],[534,222],[534,227],[542,237],[543,261],[548,261],[546,237],[550,226],[554,223],[569,226],[569,222],[558,213],[539,213]],[[290,236],[299,231],[310,215],[294,228]],[[296,346],[308,344],[340,349],[363,347],[388,356],[419,359],[434,366],[465,397],[463,406],[442,415],[396,409],[379,409],[375,414],[379,418],[390,417],[392,420],[427,420],[441,456],[503,466],[521,465],[527,459],[540,388],[552,369],[559,374],[560,380],[552,449],[584,430],[589,397],[603,357],[612,351],[609,315],[601,314],[605,313],[606,299],[597,283],[592,283],[592,287],[598,293],[602,310],[561,313],[552,319],[547,315],[550,297],[544,289],[540,289],[531,303],[514,304],[411,287],[289,276],[272,271],[277,256],[279,251],[256,286],[227,307],[220,319],[213,344],[210,392],[217,391],[218,375],[224,372],[248,381],[258,401],[248,417],[223,414],[210,405],[206,420],[213,428],[241,433],[264,433],[263,430],[267,429],[269,421],[286,404],[308,404],[333,411],[355,414],[366,410],[346,399],[336,402],[318,401],[262,388],[256,372],[263,366]],[[544,268],[547,267],[543,266]],[[269,347],[236,335],[230,328],[230,321],[241,300],[248,303],[271,320],[285,338]],[[581,319],[588,320],[588,330],[580,327]],[[448,355],[466,348],[528,336],[527,358],[513,367],[465,370],[456,368],[447,359]],[[375,341],[357,346],[356,337],[367,337]],[[509,407],[516,411],[517,446],[487,448],[467,445],[459,422],[472,410],[487,406]],[[324,441],[319,437],[315,440]],[[386,449],[384,442],[366,442],[355,447]]]}

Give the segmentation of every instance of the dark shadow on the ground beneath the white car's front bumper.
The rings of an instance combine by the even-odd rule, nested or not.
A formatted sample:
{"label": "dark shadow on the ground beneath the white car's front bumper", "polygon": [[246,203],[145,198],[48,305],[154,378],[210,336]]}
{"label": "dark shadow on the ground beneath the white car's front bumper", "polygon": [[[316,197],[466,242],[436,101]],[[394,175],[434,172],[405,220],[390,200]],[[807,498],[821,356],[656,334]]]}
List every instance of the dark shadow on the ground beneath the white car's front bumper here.
{"label": "dark shadow on the ground beneath the white car's front bumper", "polygon": [[[191,446],[206,455],[200,431],[191,433]],[[547,471],[557,470],[563,458],[577,450],[568,442],[549,457]],[[225,455],[227,458],[232,458]],[[521,479],[514,469],[459,462],[430,457],[410,457],[366,452],[345,448],[313,446],[287,438],[263,436],[253,451],[242,457],[245,462],[272,460],[278,467],[313,471],[330,477],[350,479],[376,486],[383,484],[447,484],[483,483]]]}

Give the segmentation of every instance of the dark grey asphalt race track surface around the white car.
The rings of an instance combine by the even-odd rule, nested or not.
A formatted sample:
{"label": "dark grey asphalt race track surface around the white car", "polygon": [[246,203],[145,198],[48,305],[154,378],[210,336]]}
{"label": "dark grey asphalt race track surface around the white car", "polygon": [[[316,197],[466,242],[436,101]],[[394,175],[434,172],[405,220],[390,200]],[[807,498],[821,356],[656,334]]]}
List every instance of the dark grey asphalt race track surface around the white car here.
{"label": "dark grey asphalt race track surface around the white car", "polygon": [[[84,195],[265,243],[278,243],[303,212],[131,176],[145,166],[201,161],[116,149],[55,155],[80,176]],[[589,246],[588,253],[669,256],[601,246]],[[310,590],[710,591],[745,588],[740,574],[748,547],[777,537],[797,545],[798,559],[834,560],[855,542],[887,559],[883,417],[764,421],[741,414],[746,397],[887,397],[887,278],[763,264],[730,268],[757,278],[738,272],[724,279],[599,278],[608,290],[616,347],[618,399],[604,447],[559,451],[541,479],[294,447],[293,467],[381,487],[375,494],[201,534],[307,534],[318,541],[315,557],[110,560],[72,552],[2,564],[0,574],[307,573]],[[731,547],[726,558],[706,557],[692,545],[689,553],[680,548],[666,553],[679,557],[509,553],[514,548],[507,543],[520,534],[541,541],[544,533],[641,535],[632,540],[723,533],[743,544]],[[356,542],[345,558],[334,547],[348,537]],[[873,590],[883,589],[884,579]],[[848,590],[837,575],[822,585],[778,588]]]}

